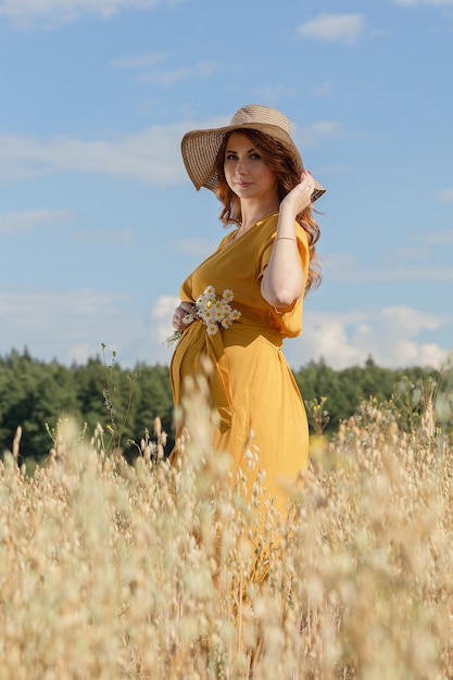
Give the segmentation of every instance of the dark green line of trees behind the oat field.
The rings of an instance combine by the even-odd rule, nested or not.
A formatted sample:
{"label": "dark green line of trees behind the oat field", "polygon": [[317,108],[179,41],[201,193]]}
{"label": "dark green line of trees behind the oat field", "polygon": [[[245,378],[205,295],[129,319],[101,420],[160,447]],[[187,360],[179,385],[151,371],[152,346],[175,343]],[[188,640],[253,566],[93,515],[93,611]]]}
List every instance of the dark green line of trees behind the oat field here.
{"label": "dark green line of trees behind the oat field", "polygon": [[[307,405],[312,431],[325,433],[336,431],[370,396],[383,402],[397,393],[414,401],[416,386],[427,380],[439,385],[443,379],[433,369],[381,368],[372,357],[363,367],[335,370],[320,360],[292,373]],[[403,386],[403,391],[397,386]],[[114,354],[110,361],[102,355],[71,367],[38,361],[27,350],[0,357],[0,454],[11,451],[21,426],[22,458],[41,463],[52,446],[58,421],[68,416],[80,423],[80,430],[86,428],[87,437],[100,424],[118,438],[116,443],[126,456],[136,451],[130,441],[139,442],[147,429],[152,433],[159,417],[168,435],[168,453],[173,444],[168,367],[139,363],[128,370],[116,363]]]}

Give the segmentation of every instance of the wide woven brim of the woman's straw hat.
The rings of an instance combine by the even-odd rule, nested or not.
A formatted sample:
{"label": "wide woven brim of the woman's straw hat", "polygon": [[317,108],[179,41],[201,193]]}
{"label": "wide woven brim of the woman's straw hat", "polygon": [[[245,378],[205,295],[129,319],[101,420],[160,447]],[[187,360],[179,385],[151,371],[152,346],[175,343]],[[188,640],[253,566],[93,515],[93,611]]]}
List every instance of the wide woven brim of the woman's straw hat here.
{"label": "wide woven brim of the woman's straw hat", "polygon": [[[227,125],[226,127],[207,130],[192,130],[186,133],[183,137],[181,153],[187,174],[192,180],[197,191],[199,191],[201,187],[205,187],[214,191],[214,193],[216,192],[218,177],[215,169],[215,162],[224,138],[229,133],[243,129],[259,130],[280,141],[294,161],[298,172],[302,173],[304,169],[302,156],[288,133],[278,125],[270,125],[268,123],[242,123],[240,125]],[[316,201],[326,191],[325,187],[315,178],[314,182],[315,188],[312,193],[312,202]]]}

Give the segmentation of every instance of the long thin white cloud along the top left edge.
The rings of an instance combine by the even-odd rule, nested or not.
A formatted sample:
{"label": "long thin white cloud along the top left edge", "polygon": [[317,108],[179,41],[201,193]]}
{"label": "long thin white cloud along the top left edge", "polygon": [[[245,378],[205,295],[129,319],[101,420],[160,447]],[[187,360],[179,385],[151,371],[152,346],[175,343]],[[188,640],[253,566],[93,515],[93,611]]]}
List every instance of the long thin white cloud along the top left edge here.
{"label": "long thin white cloud along the top left edge", "polygon": [[[151,10],[165,0],[0,0],[0,18],[10,18],[29,26],[37,21],[47,26],[73,22],[83,14],[98,14],[109,18],[123,9]],[[166,0],[176,4],[176,0]]]}

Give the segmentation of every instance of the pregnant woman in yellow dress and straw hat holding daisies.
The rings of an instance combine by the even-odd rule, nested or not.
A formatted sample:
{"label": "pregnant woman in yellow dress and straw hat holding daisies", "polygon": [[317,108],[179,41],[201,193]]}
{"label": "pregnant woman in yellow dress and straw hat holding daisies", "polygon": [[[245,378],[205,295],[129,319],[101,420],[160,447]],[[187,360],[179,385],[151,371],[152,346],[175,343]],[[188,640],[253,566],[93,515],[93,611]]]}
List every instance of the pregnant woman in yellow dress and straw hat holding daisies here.
{"label": "pregnant woman in yellow dress and straw hat holding daisies", "polygon": [[[244,471],[249,492],[263,469],[266,494],[282,511],[286,484],[306,468],[309,450],[282,341],[301,333],[304,295],[320,280],[312,204],[325,189],[305,171],[287,116],[267,106],[247,105],[226,127],[187,133],[181,150],[196,188],[215,192],[222,223],[235,229],[180,288],[174,402],[209,357],[214,450]],[[254,469],[248,451],[257,455]],[[172,463],[177,456],[176,445]]]}

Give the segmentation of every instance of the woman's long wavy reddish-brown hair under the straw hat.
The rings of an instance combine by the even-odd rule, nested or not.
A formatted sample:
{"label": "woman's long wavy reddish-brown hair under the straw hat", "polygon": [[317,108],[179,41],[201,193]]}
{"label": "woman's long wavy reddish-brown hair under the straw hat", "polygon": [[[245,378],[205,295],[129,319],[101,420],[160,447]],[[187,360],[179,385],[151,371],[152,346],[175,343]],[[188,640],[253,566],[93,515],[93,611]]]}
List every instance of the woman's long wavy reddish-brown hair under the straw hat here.
{"label": "woman's long wavy reddish-brown hair under the straw hat", "polygon": [[[265,135],[260,130],[247,129],[240,131],[250,139],[255,149],[260,150],[266,165],[274,171],[274,173],[276,173],[278,178],[279,199],[281,202],[286,194],[289,193],[291,189],[293,189],[301,180],[297,160],[290,153],[289,149],[287,149],[280,141],[268,137],[268,135]],[[215,168],[218,177],[216,196],[223,204],[219,219],[225,227],[228,227],[232,223],[240,224],[242,221],[240,200],[236,193],[231,191],[225,179],[224,162],[227,142],[228,135],[225,136],[215,162]],[[316,243],[319,240],[320,230],[313,216],[311,205],[299,213],[295,219],[305,231],[309,241],[310,265],[305,288],[305,292],[307,292],[311,288],[319,286],[322,280],[319,256],[316,253]]]}

